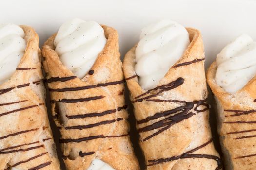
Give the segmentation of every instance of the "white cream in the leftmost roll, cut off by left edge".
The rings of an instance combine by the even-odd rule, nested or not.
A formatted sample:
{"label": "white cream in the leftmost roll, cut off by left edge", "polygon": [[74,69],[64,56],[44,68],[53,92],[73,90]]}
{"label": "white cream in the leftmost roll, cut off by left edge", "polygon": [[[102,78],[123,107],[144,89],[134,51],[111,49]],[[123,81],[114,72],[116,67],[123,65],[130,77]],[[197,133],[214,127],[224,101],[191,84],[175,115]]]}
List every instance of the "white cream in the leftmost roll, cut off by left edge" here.
{"label": "white cream in the leftmost roll, cut off by left edge", "polygon": [[15,72],[26,49],[25,33],[14,24],[0,24],[0,84]]}

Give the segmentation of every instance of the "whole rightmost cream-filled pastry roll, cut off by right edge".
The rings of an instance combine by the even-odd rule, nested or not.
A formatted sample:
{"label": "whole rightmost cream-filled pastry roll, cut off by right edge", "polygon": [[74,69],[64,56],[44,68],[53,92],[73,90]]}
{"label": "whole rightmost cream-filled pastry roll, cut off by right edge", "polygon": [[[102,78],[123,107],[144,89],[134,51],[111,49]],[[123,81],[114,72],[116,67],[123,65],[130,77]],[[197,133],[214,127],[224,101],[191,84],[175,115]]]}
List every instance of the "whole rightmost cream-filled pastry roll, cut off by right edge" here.
{"label": "whole rightmost cream-filled pastry roll, cut off by right edge", "polygon": [[256,42],[237,37],[207,72],[218,115],[218,133],[227,170],[256,167]]}

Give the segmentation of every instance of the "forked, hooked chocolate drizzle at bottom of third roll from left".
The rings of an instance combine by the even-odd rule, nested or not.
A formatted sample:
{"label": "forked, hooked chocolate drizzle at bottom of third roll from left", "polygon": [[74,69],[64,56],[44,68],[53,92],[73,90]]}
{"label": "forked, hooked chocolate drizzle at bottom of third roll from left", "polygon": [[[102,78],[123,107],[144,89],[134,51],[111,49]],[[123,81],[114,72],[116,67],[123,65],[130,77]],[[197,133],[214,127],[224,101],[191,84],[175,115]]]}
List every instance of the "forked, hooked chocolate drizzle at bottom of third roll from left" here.
{"label": "forked, hooked chocolate drizzle at bottom of third roll from left", "polygon": [[149,160],[148,161],[149,164],[147,166],[153,166],[153,165],[157,165],[157,164],[161,164],[161,163],[165,163],[165,162],[171,162],[171,161],[178,160],[178,159],[185,159],[185,158],[206,158],[206,159],[215,160],[217,162],[216,170],[220,170],[220,169],[222,169],[222,162],[219,157],[214,156],[214,155],[208,155],[208,154],[190,154],[190,153],[193,153],[193,152],[207,146],[211,142],[212,142],[212,139],[209,140],[208,142],[186,152],[186,153],[181,154],[181,155],[172,156],[169,158],[160,158],[160,159]]}

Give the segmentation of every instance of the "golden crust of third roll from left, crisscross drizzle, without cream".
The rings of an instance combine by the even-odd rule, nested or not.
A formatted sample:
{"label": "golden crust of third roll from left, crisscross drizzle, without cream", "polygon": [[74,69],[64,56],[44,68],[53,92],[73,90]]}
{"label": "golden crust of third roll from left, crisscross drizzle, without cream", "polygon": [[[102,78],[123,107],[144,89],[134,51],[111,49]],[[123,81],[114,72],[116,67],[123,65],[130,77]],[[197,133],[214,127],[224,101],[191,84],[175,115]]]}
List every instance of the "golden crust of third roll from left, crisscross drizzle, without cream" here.
{"label": "golden crust of third roll from left, crisscross drizzle, without cream", "polygon": [[202,37],[196,29],[187,30],[191,43],[158,89],[145,91],[139,85],[134,70],[136,46],[124,58],[147,170],[221,169],[208,123]]}

